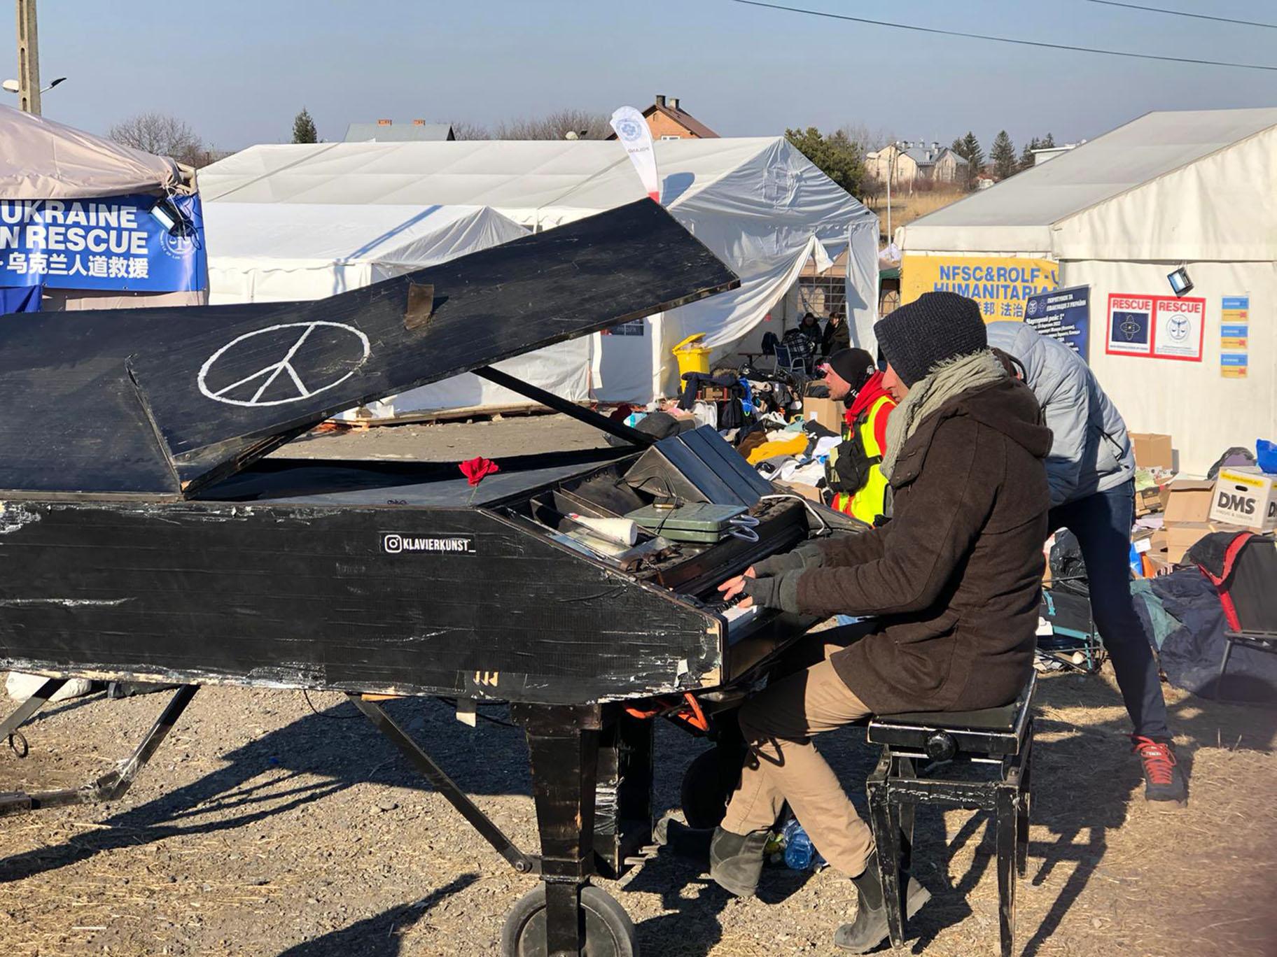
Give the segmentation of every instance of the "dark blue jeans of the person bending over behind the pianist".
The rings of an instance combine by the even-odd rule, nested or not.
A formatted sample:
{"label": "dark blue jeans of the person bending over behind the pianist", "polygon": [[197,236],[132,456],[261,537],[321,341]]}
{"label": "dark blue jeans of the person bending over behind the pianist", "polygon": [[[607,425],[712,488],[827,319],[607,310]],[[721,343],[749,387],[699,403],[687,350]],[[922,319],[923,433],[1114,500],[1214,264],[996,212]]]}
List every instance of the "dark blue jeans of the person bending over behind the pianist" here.
{"label": "dark blue jeans of the person bending over behind the pianist", "polygon": [[1135,519],[1135,482],[1119,485],[1051,509],[1052,531],[1068,528],[1078,536],[1087,563],[1091,614],[1114,662],[1117,686],[1135,734],[1162,741],[1166,701],[1157,676],[1153,648],[1130,597],[1130,526]]}

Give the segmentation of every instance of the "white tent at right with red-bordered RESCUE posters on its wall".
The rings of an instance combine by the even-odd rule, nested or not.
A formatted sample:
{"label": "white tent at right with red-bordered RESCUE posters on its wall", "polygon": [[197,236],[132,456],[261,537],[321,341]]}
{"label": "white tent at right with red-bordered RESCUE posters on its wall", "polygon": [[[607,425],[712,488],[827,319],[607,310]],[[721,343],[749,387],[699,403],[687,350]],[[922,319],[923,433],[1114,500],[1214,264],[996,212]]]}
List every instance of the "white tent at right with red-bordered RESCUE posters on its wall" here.
{"label": "white tent at right with red-bordered RESCUE posters on its wall", "polygon": [[[1031,256],[1059,263],[1060,287],[1088,285],[1092,369],[1131,430],[1172,436],[1181,470],[1277,438],[1277,108],[1147,114],[896,241],[905,268],[916,255]],[[1110,353],[1110,296],[1174,297],[1167,276],[1181,265],[1185,299],[1205,300],[1199,361]],[[1225,319],[1236,322],[1225,300],[1237,297],[1249,297],[1245,378],[1221,360],[1239,348],[1222,348]]]}

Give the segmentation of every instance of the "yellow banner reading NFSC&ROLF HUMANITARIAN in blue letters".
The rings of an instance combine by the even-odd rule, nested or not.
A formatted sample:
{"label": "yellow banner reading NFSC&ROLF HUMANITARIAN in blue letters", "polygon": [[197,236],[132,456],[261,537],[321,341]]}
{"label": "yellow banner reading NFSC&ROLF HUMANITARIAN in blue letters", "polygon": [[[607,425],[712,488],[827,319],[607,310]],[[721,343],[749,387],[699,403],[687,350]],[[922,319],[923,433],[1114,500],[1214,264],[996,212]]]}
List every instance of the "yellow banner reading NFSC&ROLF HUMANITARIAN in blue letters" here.
{"label": "yellow banner reading NFSC&ROLF HUMANITARIAN in blue letters", "polygon": [[1050,259],[909,255],[900,263],[900,302],[923,292],[956,292],[979,302],[986,323],[1023,319],[1029,296],[1060,285]]}

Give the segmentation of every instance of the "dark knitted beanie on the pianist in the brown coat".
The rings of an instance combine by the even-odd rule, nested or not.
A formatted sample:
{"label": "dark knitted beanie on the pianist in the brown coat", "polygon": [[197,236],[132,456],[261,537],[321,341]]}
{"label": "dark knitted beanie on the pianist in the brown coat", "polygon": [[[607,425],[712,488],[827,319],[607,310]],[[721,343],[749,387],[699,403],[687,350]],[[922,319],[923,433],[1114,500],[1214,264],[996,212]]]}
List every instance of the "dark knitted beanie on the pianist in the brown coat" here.
{"label": "dark knitted beanie on the pianist in the brown coat", "polygon": [[908,387],[941,362],[988,347],[976,300],[956,292],[923,292],[873,325],[886,361]]}

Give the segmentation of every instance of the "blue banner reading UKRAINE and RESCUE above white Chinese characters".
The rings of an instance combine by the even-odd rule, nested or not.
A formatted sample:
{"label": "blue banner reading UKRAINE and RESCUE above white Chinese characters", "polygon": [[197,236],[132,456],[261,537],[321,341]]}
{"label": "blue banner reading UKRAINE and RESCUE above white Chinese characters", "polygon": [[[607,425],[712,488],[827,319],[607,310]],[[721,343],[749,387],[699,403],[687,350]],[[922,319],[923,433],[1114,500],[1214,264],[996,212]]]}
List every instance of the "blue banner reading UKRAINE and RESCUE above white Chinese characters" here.
{"label": "blue banner reading UKRAINE and RESCUE above white Chinese characters", "polygon": [[193,228],[172,236],[156,197],[0,200],[0,286],[190,292],[206,285],[199,197],[172,203]]}

